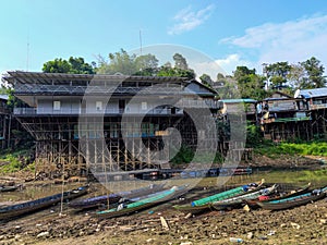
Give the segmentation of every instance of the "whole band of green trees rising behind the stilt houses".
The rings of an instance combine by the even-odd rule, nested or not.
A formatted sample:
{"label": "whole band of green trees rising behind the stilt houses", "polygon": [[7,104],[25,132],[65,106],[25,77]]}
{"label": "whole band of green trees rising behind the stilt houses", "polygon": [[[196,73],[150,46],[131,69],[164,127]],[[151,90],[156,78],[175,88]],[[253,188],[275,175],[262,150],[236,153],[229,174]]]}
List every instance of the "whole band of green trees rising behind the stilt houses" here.
{"label": "whole band of green trees rising behind the stilt houses", "polygon": [[[83,58],[57,58],[47,61],[43,72],[81,74],[123,74],[142,76],[177,76],[198,79],[205,86],[216,89],[220,98],[252,98],[261,100],[275,90],[293,96],[296,89],[319,88],[326,86],[325,68],[312,57],[306,61],[291,64],[288,61],[263,64],[263,74],[255,69],[237,66],[232,75],[218,73],[216,77],[196,74],[189,66],[186,58],[174,53],[173,64],[166,61],[159,65],[155,54],[130,54],[124,49],[111,52],[107,58],[97,57],[96,62],[86,63]],[[161,61],[162,62],[162,61]],[[165,62],[165,61],[164,61]],[[198,78],[197,78],[198,77]]]}

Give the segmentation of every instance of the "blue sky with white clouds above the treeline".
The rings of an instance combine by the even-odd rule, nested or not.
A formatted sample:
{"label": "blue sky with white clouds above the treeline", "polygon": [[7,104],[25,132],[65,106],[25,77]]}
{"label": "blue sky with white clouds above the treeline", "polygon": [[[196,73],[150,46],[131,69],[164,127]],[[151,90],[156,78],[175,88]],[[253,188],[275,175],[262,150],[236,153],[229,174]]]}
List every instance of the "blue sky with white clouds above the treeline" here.
{"label": "blue sky with white clouds above the treeline", "polygon": [[263,63],[311,57],[327,66],[326,0],[10,0],[0,9],[1,74],[40,72],[56,58],[97,62],[120,49],[180,52],[197,75],[238,65],[262,74]]}

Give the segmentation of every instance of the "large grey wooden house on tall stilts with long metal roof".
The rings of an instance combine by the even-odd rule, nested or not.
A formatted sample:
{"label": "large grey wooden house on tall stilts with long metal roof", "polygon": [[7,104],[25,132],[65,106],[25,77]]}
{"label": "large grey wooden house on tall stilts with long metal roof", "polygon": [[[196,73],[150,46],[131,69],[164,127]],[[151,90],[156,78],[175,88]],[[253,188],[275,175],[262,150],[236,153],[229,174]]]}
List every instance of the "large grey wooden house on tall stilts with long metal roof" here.
{"label": "large grey wooden house on tall stilts with long metal roof", "polygon": [[196,81],[21,71],[4,79],[29,106],[15,108],[14,117],[36,140],[38,172],[84,174],[90,163],[95,171],[160,168],[172,155],[165,148],[171,127],[191,148],[198,137],[213,145],[187,113],[204,122],[205,109],[217,113],[216,91]]}

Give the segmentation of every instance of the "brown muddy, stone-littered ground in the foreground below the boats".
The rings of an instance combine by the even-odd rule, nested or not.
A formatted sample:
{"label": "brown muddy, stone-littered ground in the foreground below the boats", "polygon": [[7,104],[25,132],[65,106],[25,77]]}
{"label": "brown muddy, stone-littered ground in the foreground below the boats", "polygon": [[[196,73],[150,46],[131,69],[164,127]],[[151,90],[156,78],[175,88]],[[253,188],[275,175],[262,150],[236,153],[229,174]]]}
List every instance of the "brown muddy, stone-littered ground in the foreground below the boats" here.
{"label": "brown muddy, stone-littered ground in the foreground below the boats", "polygon": [[[245,181],[246,182],[246,181]],[[192,200],[193,189],[179,199],[133,216],[99,220],[92,211],[76,212],[63,205],[0,221],[0,245],[4,244],[327,244],[327,198],[281,211],[235,209],[190,217],[172,208]],[[213,189],[211,189],[213,191]],[[162,226],[165,218],[168,229]]]}

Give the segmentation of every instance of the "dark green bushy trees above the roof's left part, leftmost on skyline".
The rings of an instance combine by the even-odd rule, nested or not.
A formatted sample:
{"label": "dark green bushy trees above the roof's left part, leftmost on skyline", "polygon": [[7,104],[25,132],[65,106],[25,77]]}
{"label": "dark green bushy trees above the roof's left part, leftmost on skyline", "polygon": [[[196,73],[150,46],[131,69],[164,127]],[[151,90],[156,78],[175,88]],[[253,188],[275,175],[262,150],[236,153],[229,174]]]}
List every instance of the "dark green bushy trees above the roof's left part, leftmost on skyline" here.
{"label": "dark green bushy trees above the roof's left part, leftmost on skyline", "polygon": [[63,60],[57,58],[44,63],[43,72],[46,73],[71,73],[71,74],[95,74],[94,68],[85,63],[83,58],[73,58]]}

